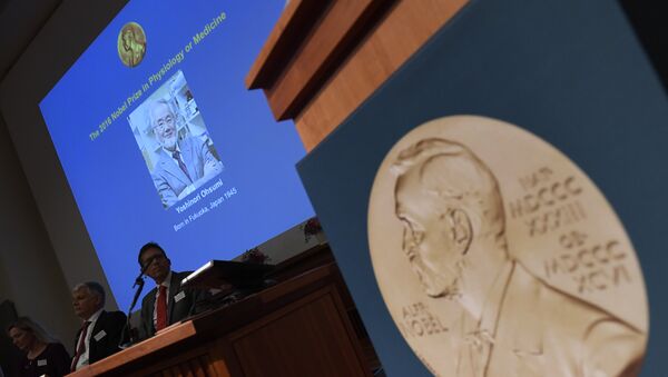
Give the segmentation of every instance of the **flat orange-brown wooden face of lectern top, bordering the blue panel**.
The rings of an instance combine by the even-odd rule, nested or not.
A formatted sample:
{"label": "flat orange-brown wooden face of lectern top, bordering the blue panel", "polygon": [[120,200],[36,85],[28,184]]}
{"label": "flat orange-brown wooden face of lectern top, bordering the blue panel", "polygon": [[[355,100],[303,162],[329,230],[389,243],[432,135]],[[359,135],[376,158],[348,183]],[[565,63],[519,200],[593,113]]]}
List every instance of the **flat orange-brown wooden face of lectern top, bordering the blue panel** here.
{"label": "flat orange-brown wooden face of lectern top, bordering the blue panel", "polygon": [[306,149],[338,126],[466,2],[399,1],[295,119]]}

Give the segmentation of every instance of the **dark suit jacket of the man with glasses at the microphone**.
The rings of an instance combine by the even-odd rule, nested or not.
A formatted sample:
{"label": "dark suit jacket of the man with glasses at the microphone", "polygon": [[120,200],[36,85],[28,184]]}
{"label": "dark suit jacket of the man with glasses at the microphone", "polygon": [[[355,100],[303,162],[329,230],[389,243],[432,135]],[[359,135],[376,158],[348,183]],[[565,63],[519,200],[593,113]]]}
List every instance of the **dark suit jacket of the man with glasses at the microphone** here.
{"label": "dark suit jacket of the man with glasses at the microphone", "polygon": [[[181,321],[183,319],[200,311],[198,304],[206,298],[207,291],[197,288],[181,288],[180,281],[190,275],[191,271],[175,272],[171,271],[169,281],[168,302],[167,302],[167,326]],[[154,307],[158,288],[151,289],[141,300],[141,328],[139,337],[149,338],[156,334],[154,326]],[[181,296],[178,302],[175,297]]]}

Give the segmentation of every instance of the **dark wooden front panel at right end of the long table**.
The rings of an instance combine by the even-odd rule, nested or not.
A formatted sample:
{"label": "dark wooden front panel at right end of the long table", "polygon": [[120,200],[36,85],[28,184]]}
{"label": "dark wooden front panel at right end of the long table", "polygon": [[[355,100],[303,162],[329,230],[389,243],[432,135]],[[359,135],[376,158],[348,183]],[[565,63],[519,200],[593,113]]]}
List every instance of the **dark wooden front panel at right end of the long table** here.
{"label": "dark wooden front panel at right end of the long table", "polygon": [[335,291],[312,294],[233,334],[244,376],[369,376]]}

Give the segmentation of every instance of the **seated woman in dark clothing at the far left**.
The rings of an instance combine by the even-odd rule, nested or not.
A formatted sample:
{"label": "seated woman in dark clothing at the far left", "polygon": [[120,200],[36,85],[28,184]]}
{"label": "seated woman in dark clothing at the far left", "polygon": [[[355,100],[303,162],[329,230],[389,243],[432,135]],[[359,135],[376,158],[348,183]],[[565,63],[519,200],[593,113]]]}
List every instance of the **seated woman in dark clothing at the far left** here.
{"label": "seated woman in dark clothing at the far left", "polygon": [[18,376],[60,377],[70,373],[70,357],[62,344],[30,318],[19,318],[7,328],[7,334],[14,346],[24,353],[19,359]]}

